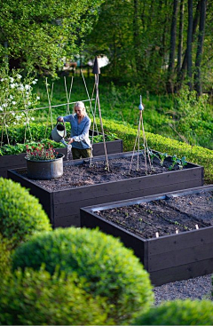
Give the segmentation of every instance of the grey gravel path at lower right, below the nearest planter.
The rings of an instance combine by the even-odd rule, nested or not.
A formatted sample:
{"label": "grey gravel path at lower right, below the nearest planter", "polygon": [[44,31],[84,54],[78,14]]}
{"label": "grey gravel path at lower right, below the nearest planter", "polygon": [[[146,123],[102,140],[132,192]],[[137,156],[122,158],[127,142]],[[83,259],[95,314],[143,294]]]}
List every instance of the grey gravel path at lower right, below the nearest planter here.
{"label": "grey gravel path at lower right, below the nearest planter", "polygon": [[211,275],[194,277],[189,280],[170,282],[154,288],[155,305],[158,306],[162,301],[185,299],[213,299],[211,291]]}

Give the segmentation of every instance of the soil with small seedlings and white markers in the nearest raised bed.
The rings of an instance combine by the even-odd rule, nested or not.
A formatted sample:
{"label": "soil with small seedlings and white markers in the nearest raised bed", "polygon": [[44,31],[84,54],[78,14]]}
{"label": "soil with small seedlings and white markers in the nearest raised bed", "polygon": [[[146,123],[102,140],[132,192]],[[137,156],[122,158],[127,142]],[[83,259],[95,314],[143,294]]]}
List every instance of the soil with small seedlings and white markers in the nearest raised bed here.
{"label": "soil with small seedlings and white markers in the nearest raised bed", "polygon": [[213,226],[213,191],[96,211],[144,239]]}

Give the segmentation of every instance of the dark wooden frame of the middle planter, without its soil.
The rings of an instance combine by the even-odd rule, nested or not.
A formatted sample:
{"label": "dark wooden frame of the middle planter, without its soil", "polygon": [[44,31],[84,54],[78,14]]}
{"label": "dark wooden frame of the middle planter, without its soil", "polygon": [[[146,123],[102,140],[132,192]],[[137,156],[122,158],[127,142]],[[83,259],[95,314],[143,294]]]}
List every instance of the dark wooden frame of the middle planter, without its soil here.
{"label": "dark wooden frame of the middle planter, without its soil", "polygon": [[[131,155],[132,152],[108,155],[108,159]],[[105,156],[96,157],[96,160],[105,160]],[[170,160],[170,157],[168,160]],[[82,163],[83,160],[75,160],[64,164]],[[42,203],[43,209],[48,213],[53,227],[80,227],[80,208],[85,206],[203,185],[203,168],[193,163],[188,163],[184,170],[168,171],[161,174],[58,191],[48,191],[36,185],[33,180],[24,178],[21,175],[23,171],[26,170],[10,170],[8,171],[8,178],[20,182],[23,187],[30,189],[32,195],[36,195],[40,203]]]}

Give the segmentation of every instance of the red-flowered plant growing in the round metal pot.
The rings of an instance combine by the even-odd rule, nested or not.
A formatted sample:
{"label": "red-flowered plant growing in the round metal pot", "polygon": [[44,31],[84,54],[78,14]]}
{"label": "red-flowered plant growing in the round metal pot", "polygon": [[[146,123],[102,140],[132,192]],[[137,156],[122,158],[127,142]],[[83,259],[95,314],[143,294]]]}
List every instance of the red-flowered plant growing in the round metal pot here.
{"label": "red-flowered plant growing in the round metal pot", "polygon": [[26,158],[28,158],[28,160],[54,160],[58,154],[57,152],[55,153],[55,149],[50,143],[48,144],[48,147],[45,147],[44,144],[38,144],[36,147],[32,146],[31,149],[28,145],[26,148]]}

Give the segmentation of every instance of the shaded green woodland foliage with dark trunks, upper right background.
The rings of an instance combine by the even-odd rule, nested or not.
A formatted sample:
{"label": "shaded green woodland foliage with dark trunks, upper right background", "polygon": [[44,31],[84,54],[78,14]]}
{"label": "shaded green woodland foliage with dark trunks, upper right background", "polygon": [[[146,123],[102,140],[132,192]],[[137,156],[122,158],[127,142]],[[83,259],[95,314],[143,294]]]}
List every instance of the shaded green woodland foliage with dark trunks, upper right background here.
{"label": "shaded green woodland foliage with dark trunks, upper right background", "polygon": [[148,91],[178,91],[189,82],[210,91],[212,9],[206,0],[106,0],[88,51],[106,54],[112,76],[131,78]]}

